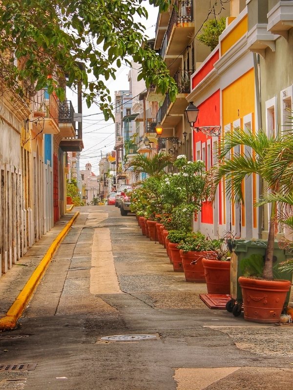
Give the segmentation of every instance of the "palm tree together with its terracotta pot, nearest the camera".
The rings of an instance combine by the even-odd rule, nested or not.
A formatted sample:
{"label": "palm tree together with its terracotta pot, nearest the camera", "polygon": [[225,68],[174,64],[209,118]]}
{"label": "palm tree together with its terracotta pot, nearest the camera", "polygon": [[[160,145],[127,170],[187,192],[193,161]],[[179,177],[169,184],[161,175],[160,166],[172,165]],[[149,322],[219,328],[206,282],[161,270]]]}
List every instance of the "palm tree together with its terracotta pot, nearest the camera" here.
{"label": "palm tree together with its terracotta pot, nearest the camera", "polygon": [[[285,143],[293,149],[293,139],[288,135],[268,137],[262,130],[255,134],[241,129],[227,132],[220,144],[219,163],[211,171],[215,185],[225,178],[226,193],[229,196],[233,194],[236,204],[244,203],[243,182],[252,174],[258,175],[267,184],[271,196],[281,191],[292,191],[293,156],[282,153]],[[240,145],[247,147],[243,148],[245,152],[235,153],[235,147]],[[233,154],[228,158],[231,151]],[[291,168],[290,183],[288,167]],[[216,187],[213,195],[215,190]],[[261,277],[241,276],[238,281],[243,295],[244,318],[253,322],[274,323],[280,318],[291,282],[273,278],[276,199],[267,197],[266,201],[271,202],[271,215],[263,273]]]}

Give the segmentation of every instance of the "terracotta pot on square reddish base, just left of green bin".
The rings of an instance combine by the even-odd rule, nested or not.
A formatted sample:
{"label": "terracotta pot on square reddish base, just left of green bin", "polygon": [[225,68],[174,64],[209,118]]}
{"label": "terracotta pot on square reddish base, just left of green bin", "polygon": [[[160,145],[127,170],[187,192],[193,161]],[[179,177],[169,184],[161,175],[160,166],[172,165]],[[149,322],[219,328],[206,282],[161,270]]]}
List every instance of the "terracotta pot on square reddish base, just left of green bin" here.
{"label": "terracotta pot on square reddish base, just left of green bin", "polygon": [[230,294],[230,261],[202,259],[209,294]]}

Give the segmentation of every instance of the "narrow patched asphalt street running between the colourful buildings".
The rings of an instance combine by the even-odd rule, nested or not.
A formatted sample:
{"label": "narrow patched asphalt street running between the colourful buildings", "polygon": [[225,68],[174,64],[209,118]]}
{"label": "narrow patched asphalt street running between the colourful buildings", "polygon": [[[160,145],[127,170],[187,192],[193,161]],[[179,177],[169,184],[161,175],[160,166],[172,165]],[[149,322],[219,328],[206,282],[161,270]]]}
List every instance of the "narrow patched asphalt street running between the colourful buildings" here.
{"label": "narrow patched asphalt street running between the colourful buildings", "polygon": [[[28,336],[0,340],[0,365],[37,366],[0,371],[0,389],[291,389],[292,327],[209,310],[202,292],[134,215],[82,207],[19,328],[1,333]],[[154,337],[101,339],[128,334]]]}

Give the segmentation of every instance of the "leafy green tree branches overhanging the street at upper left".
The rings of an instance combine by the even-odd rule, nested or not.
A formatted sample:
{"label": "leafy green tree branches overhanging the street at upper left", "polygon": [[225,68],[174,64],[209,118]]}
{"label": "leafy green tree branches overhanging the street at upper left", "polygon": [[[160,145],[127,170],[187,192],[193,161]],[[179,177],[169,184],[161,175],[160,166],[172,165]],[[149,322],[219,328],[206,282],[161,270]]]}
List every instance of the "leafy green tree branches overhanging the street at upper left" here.
{"label": "leafy green tree branches overhanging the street at upper left", "polygon": [[[166,10],[170,0],[149,0]],[[98,102],[111,116],[105,80],[115,79],[121,61],[141,64],[139,79],[175,98],[177,87],[166,64],[147,44],[142,0],[3,0],[0,7],[0,78],[15,96],[25,87],[48,87],[64,99],[64,87],[83,86],[88,106]],[[14,59],[20,59],[21,67]],[[53,76],[53,78],[48,78]]]}

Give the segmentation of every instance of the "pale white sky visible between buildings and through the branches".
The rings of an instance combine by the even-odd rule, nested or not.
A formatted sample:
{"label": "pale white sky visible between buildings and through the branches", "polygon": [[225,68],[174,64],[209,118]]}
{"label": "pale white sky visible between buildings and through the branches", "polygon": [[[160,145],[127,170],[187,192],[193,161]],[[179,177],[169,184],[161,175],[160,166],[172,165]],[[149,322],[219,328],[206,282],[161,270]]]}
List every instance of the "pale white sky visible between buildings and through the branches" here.
{"label": "pale white sky visible between buildings and through the branches", "polygon": [[[144,6],[148,12],[148,20],[137,19],[146,26],[146,35],[148,38],[153,38],[155,35],[155,25],[157,21],[157,8],[151,6],[148,1],[144,1]],[[130,67],[122,64],[121,68],[116,72],[116,80],[109,78],[105,84],[110,90],[112,102],[114,101],[115,91],[129,89],[128,73]],[[72,100],[75,112],[77,109],[77,95],[75,92],[67,91],[67,99]],[[96,115],[93,115],[96,114]],[[91,115],[88,117],[88,115]],[[115,124],[112,119],[107,122],[103,114],[96,105],[92,105],[89,109],[83,102],[83,141],[84,150],[81,153],[80,169],[84,169],[87,162],[92,165],[92,171],[99,174],[99,161],[102,156],[113,150],[115,145]]]}

